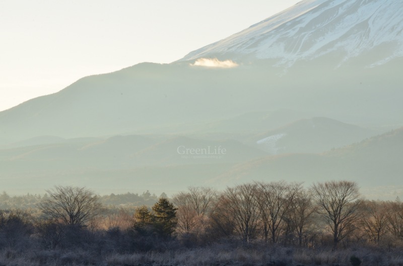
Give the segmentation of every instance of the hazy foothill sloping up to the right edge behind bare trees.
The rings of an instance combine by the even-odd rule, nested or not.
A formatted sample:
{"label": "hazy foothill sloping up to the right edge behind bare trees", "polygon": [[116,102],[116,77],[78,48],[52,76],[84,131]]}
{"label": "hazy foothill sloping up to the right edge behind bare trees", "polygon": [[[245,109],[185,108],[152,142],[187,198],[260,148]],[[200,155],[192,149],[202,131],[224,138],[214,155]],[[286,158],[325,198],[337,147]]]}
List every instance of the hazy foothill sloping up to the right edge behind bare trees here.
{"label": "hazy foothill sloping up to the right edge behind bare trees", "polygon": [[284,154],[240,163],[216,181],[316,182],[347,179],[366,187],[403,185],[403,128],[323,154]]}

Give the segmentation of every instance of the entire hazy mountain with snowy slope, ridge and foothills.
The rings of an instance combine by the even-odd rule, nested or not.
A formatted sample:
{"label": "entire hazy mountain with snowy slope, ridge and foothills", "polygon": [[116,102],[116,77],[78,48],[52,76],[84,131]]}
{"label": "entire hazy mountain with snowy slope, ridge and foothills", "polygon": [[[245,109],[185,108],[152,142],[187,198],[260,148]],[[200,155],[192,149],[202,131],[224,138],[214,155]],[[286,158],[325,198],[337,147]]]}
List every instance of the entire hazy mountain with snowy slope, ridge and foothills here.
{"label": "entire hazy mountain with snowy slope, ridge and foothills", "polygon": [[171,64],[84,77],[0,112],[2,189],[400,185],[402,47],[401,1],[305,0]]}

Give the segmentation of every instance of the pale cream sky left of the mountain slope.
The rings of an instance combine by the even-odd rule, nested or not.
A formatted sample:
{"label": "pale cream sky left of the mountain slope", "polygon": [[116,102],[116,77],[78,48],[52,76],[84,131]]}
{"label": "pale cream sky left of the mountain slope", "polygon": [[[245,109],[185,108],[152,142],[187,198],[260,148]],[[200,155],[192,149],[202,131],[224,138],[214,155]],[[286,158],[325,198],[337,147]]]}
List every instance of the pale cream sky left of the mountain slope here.
{"label": "pale cream sky left of the mountain slope", "polygon": [[0,111],[77,79],[170,63],[300,0],[0,0]]}

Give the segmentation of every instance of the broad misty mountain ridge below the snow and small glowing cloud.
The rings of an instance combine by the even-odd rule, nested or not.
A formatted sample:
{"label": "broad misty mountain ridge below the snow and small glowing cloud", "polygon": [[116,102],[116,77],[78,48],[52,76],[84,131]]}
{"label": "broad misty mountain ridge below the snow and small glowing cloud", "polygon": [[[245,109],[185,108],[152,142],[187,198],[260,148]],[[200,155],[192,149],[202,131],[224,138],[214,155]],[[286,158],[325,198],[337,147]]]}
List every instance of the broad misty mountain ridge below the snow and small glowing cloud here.
{"label": "broad misty mountain ridge below the snow and small glowing cloud", "polygon": [[[203,124],[218,130],[255,130],[269,125],[264,117],[260,125],[259,119],[248,122],[247,116],[239,123],[230,120],[279,109],[353,124],[403,124],[401,78],[391,67],[327,71],[313,66],[278,75],[278,69],[260,65],[206,69],[187,63],[143,63],[82,78],[56,94],[0,112],[0,145],[49,135],[206,132],[208,128],[200,128]],[[284,122],[292,122],[291,116],[308,118],[286,114]],[[279,120],[276,124],[281,126]]]}

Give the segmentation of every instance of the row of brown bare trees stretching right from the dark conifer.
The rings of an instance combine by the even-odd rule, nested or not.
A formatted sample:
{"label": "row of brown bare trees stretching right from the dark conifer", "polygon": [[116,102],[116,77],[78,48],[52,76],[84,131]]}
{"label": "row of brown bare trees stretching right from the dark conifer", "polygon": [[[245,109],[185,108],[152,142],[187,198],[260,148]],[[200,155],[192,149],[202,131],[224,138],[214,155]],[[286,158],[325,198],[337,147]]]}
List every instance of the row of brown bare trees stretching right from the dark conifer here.
{"label": "row of brown bare trees stretching right from the dark conifer", "polygon": [[177,233],[203,239],[238,238],[306,247],[340,243],[401,245],[403,204],[368,201],[349,181],[255,182],[223,192],[189,188],[173,198]]}

